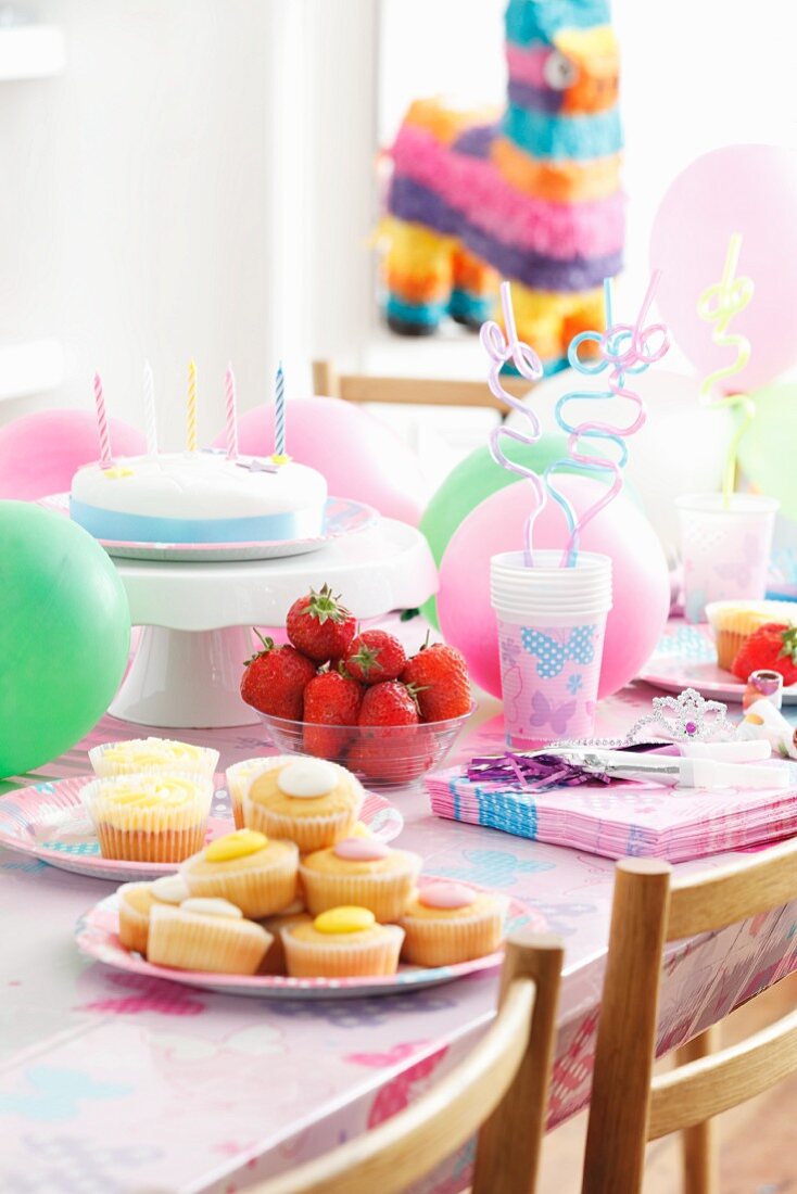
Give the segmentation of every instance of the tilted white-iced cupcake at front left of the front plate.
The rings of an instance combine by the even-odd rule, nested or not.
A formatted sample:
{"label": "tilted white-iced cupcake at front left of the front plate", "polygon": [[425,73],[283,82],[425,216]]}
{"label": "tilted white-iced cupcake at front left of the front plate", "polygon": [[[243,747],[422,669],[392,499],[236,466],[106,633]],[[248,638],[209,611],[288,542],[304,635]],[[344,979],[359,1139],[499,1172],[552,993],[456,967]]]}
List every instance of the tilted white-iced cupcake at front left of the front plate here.
{"label": "tilted white-iced cupcake at front left of the front plate", "polygon": [[173,970],[255,974],[271,941],[225,899],[186,899],[179,907],[153,906],[147,958]]}

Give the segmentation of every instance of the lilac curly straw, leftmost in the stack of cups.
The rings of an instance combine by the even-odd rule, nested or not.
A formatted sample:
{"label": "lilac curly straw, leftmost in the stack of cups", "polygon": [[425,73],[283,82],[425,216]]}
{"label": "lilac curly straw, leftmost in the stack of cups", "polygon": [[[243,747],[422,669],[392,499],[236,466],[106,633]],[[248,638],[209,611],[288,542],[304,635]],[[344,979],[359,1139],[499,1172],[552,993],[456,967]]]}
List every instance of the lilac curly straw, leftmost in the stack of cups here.
{"label": "lilac curly straw, leftmost in the stack of cups", "polygon": [[537,443],[540,438],[541,431],[540,420],[531,407],[526,406],[519,398],[514,398],[511,394],[507,393],[501,384],[501,370],[503,365],[511,361],[520,376],[525,377],[526,381],[539,381],[542,376],[542,363],[537,352],[534,352],[528,344],[523,344],[517,339],[515,312],[511,306],[511,294],[508,282],[501,283],[501,307],[503,310],[507,334],[504,336],[501,326],[496,324],[495,320],[489,320],[486,324],[483,324],[479,333],[482,345],[492,362],[490,371],[488,373],[488,386],[490,387],[490,393],[493,398],[501,399],[502,402],[505,402],[507,406],[511,406],[513,410],[519,411],[523,418],[528,420],[529,431],[523,433],[522,431],[515,431],[513,427],[493,427],[490,432],[490,454],[496,463],[501,464],[502,468],[509,469],[510,473],[517,473],[519,476],[531,481],[532,488],[534,490],[535,504],[526,519],[526,529],[523,533],[523,562],[527,568],[531,568],[534,562],[532,558],[534,522],[545,506],[547,494],[541,479],[533,468],[527,468],[525,464],[515,463],[515,461],[509,460],[509,457],[504,455],[501,450],[501,437],[505,436],[508,439],[515,439],[521,444]]}

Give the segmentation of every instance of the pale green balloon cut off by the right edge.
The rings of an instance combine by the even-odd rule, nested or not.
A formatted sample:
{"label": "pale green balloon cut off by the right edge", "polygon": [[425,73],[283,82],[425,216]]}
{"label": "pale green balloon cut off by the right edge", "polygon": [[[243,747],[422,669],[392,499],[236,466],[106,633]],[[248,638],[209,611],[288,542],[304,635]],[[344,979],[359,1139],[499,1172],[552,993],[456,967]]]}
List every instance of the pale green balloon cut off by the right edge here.
{"label": "pale green balloon cut off by the right edge", "polygon": [[797,384],[765,386],[750,394],[755,418],[744,431],[738,458],[762,493],[780,501],[780,512],[797,521]]}

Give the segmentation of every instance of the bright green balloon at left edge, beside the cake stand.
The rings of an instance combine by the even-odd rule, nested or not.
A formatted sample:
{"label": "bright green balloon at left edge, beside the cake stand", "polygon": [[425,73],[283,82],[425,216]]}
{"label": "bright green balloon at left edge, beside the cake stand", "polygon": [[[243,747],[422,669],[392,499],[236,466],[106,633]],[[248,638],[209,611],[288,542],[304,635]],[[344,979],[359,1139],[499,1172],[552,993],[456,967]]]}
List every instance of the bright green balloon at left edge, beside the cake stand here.
{"label": "bright green balloon at left edge, beside the cake stand", "polygon": [[111,560],[81,527],[0,501],[0,776],[69,750],[103,716],[130,650]]}

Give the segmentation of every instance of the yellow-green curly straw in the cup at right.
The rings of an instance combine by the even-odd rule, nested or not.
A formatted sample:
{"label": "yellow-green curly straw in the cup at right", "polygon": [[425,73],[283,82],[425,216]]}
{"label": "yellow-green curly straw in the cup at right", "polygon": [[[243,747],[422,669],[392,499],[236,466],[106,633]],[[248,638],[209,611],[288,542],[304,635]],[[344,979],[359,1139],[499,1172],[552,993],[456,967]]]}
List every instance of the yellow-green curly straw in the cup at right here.
{"label": "yellow-green curly straw in the cup at right", "polygon": [[736,359],[723,365],[722,369],[709,374],[700,387],[700,401],[704,406],[728,406],[741,413],[734,438],[728,445],[728,455],[722,474],[722,499],[725,510],[730,505],[730,496],[734,492],[738,445],[742,436],[755,418],[755,404],[747,394],[729,394],[715,401],[711,398],[711,390],[718,381],[723,381],[725,377],[734,377],[737,373],[741,373],[750,359],[750,341],[747,337],[738,333],[734,336],[728,333],[728,325],[734,315],[738,315],[740,310],[743,310],[753,297],[753,281],[747,277],[735,277],[741,248],[742,238],[740,233],[734,233],[728,241],[722,278],[719,282],[715,282],[713,285],[706,287],[698,298],[698,315],[700,319],[705,319],[707,324],[715,325],[711,339],[717,347],[736,349]]}

